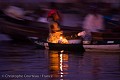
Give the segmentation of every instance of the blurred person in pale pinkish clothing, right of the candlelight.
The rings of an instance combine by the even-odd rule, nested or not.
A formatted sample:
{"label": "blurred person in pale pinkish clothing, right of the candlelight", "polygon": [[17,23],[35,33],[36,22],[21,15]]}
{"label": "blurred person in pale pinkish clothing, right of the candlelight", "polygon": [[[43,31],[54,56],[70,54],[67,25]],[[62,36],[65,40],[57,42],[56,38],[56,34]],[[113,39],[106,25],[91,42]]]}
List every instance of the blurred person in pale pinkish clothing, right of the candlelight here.
{"label": "blurred person in pale pinkish clothing, right of the candlelight", "polygon": [[92,12],[85,17],[83,29],[86,32],[84,37],[85,41],[92,40],[91,32],[100,32],[104,30],[104,19],[97,9],[92,10]]}

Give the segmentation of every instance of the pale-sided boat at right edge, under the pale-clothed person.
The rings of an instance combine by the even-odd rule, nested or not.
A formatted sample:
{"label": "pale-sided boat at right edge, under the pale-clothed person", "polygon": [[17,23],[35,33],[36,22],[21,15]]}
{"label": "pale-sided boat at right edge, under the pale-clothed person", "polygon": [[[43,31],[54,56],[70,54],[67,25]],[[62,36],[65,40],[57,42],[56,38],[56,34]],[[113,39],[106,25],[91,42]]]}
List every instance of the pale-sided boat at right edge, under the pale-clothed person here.
{"label": "pale-sided boat at right edge, under the pale-clothed person", "polygon": [[95,41],[91,44],[84,44],[83,47],[89,52],[120,52],[119,40]]}

